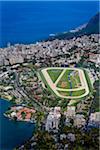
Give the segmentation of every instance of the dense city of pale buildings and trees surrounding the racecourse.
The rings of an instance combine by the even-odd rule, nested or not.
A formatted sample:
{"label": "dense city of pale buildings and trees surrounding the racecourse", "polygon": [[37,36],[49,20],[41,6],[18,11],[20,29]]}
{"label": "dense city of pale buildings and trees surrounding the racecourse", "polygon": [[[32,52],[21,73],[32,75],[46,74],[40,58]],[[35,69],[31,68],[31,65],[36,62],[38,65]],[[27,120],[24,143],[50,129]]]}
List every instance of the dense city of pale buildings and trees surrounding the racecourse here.
{"label": "dense city of pale buildings and trees surrounding the racecourse", "polygon": [[[37,124],[32,138],[16,149],[98,149],[99,38],[91,34],[0,48],[0,97],[13,103],[4,115]],[[84,68],[89,95],[74,104],[56,97],[43,88],[39,71],[46,67]]]}

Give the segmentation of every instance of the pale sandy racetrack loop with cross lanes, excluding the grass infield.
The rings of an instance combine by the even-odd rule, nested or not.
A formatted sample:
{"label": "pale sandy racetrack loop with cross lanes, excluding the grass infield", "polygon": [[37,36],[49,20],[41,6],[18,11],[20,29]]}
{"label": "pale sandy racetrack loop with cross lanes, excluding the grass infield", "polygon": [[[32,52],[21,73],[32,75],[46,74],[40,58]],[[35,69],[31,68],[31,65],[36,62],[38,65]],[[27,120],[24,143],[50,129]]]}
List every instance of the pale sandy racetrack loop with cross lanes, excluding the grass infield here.
{"label": "pale sandy racetrack loop with cross lanes, excluding the grass infield", "polygon": [[[63,71],[61,72],[61,74],[59,75],[59,77],[57,78],[57,80],[55,81],[55,83],[53,83],[51,77],[48,74],[48,70],[53,70],[53,69],[62,69]],[[79,73],[79,77],[80,77],[80,81],[81,81],[81,86],[78,88],[72,88],[72,89],[63,89],[63,88],[59,88],[57,87],[58,82],[61,80],[62,76],[64,75],[64,73],[66,72],[66,70],[75,70],[78,71]],[[79,98],[83,98],[84,96],[89,94],[89,87],[84,75],[84,71],[82,69],[79,68],[62,68],[62,67],[49,67],[49,68],[45,68],[41,70],[47,84],[50,86],[50,88],[52,89],[52,91],[60,98],[68,98],[68,99],[79,99]],[[66,91],[66,92],[74,92],[74,91],[80,91],[80,90],[84,90],[85,89],[85,93],[80,95],[80,96],[64,96],[59,94],[58,91]]]}

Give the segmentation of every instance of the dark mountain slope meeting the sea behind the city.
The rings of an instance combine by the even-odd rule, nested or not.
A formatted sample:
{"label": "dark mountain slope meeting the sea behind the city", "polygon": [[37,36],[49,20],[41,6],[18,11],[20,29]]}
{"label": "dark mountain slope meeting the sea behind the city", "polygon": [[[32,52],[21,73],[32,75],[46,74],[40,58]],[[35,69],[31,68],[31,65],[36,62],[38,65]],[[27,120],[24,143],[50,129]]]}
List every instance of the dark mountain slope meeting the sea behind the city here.
{"label": "dark mountain slope meeting the sea behind the city", "polygon": [[74,30],[68,32],[63,32],[50,36],[48,40],[54,39],[70,39],[73,37],[78,37],[82,35],[98,34],[100,25],[100,12],[93,16],[87,24],[84,24]]}

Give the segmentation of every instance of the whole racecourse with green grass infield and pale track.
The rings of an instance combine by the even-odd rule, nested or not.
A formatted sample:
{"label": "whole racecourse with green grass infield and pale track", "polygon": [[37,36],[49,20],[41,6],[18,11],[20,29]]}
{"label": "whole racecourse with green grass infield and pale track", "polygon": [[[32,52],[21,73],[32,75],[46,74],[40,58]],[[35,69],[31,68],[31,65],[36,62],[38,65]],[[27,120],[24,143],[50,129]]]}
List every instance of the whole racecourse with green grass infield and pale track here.
{"label": "whole racecourse with green grass infield and pale track", "polygon": [[89,94],[82,69],[49,67],[42,69],[40,76],[45,87],[60,98],[79,99]]}

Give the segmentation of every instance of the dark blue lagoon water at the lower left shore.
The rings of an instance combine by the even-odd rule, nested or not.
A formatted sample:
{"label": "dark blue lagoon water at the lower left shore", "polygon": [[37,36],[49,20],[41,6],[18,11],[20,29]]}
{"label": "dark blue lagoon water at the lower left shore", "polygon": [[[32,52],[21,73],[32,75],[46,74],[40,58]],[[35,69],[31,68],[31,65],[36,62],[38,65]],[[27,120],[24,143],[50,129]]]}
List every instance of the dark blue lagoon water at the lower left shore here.
{"label": "dark blue lagoon water at the lower left shore", "polygon": [[3,113],[11,104],[0,99],[0,150],[12,150],[23,144],[34,132],[34,124],[15,122],[4,117]]}

